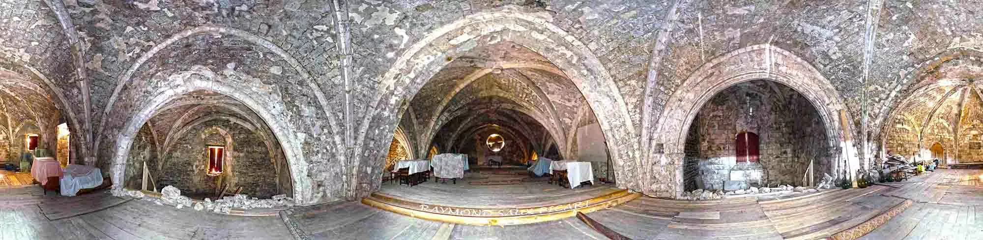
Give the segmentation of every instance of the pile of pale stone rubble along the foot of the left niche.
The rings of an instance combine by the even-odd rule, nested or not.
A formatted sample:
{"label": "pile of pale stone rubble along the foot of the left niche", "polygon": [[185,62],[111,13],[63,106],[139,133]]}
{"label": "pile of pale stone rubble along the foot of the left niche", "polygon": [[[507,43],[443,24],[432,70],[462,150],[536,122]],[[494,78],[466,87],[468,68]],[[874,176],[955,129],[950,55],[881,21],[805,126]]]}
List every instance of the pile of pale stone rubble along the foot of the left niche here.
{"label": "pile of pale stone rubble along the foot of the left niche", "polygon": [[140,191],[133,190],[113,190],[115,196],[125,196],[134,199],[145,199],[146,201],[153,201],[157,205],[168,205],[174,206],[177,209],[184,209],[185,207],[194,208],[195,210],[210,210],[214,212],[228,213],[229,210],[235,209],[270,209],[277,207],[293,207],[294,200],[287,198],[286,195],[273,196],[272,199],[257,199],[249,198],[244,194],[238,194],[232,197],[224,197],[220,200],[211,201],[210,199],[204,199],[203,202],[194,203],[191,198],[187,196],[181,196],[181,190],[173,186],[164,187],[160,193],[162,196],[160,199],[146,198],[144,193]]}

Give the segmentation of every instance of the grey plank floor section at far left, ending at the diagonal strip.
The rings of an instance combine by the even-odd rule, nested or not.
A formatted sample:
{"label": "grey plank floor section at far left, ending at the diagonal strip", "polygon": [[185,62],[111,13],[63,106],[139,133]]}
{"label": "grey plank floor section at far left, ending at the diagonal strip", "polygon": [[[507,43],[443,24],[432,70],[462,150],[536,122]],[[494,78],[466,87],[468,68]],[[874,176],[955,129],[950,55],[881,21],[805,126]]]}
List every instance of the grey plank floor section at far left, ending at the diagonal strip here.
{"label": "grey plank floor section at far left, ending at the diagonal strip", "polygon": [[[0,240],[22,239],[289,239],[276,216],[234,216],[190,209],[157,206],[148,201],[129,201],[101,209],[111,202],[103,193],[83,197],[41,194],[40,188],[0,189]],[[88,196],[88,197],[85,197]],[[38,205],[58,212],[72,208],[90,212],[49,220]]]}

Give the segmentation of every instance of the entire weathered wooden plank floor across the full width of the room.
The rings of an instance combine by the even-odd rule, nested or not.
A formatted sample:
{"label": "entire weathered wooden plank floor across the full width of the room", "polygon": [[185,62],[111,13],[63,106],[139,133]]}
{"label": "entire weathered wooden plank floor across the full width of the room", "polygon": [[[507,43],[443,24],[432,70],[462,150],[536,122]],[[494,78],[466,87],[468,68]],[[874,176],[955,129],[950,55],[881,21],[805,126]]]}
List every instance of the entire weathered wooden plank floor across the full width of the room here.
{"label": "entire weathered wooden plank floor across the full width of the room", "polygon": [[[700,202],[643,197],[588,215],[633,239],[819,239],[856,226],[904,200],[896,196],[905,196],[925,202],[901,212],[865,239],[983,239],[983,207],[979,205],[983,186],[968,177],[978,171],[950,171],[913,178],[908,183],[897,184],[900,188],[873,186]],[[426,185],[412,189],[421,186]],[[482,189],[477,191],[480,196],[492,195],[492,188],[487,186],[466,186],[459,189]],[[607,189],[535,192],[527,188],[526,184],[505,187],[505,192],[514,195],[499,194],[497,198],[539,196],[553,201],[572,198],[578,190],[583,194]],[[427,191],[439,189],[453,190],[438,186]],[[455,191],[458,190],[450,192]],[[105,198],[108,197],[92,195],[87,201],[86,198],[60,199],[53,194],[41,194],[36,186],[0,188],[0,229],[3,229],[0,240],[292,239],[292,233],[306,239],[605,239],[573,217],[505,227],[470,226],[414,218],[356,202],[293,208],[281,211],[280,216],[236,216],[176,210],[132,200],[56,220],[49,220],[38,207],[52,205],[45,208],[52,208],[47,213],[55,214],[54,208],[84,209],[87,204],[98,206],[99,202],[111,202]],[[535,203],[533,200],[513,203],[523,201]],[[64,206],[54,206],[58,204]]]}

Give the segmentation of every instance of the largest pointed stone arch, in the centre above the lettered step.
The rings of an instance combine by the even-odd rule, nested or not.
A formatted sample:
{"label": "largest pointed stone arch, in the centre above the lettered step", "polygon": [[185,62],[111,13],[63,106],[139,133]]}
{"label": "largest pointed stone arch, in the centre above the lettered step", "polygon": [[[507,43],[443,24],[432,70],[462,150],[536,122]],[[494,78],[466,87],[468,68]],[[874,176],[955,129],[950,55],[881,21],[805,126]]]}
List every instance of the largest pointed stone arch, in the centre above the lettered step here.
{"label": "largest pointed stone arch, in the centre above the lettered step", "polygon": [[[384,134],[391,132],[398,122],[394,113],[403,100],[413,96],[446,66],[450,60],[463,55],[480,41],[512,41],[543,55],[562,73],[569,77],[574,86],[584,94],[593,109],[607,109],[597,112],[602,131],[610,142],[611,158],[614,162],[615,177],[620,188],[636,188],[638,141],[635,127],[628,114],[628,108],[620,91],[614,84],[607,69],[586,44],[573,34],[553,24],[549,13],[524,13],[515,9],[498,12],[478,13],[433,30],[414,43],[393,63],[379,79],[376,98],[369,102],[366,118],[359,125],[357,133],[357,152],[368,150],[371,141],[381,142]],[[397,88],[398,87],[398,88]],[[369,129],[379,129],[370,131]],[[357,167],[356,162],[356,168]],[[376,172],[359,177],[363,182],[377,182],[372,176]],[[358,177],[358,176],[353,176]],[[375,184],[375,183],[373,183]],[[357,191],[366,194],[373,189]]]}

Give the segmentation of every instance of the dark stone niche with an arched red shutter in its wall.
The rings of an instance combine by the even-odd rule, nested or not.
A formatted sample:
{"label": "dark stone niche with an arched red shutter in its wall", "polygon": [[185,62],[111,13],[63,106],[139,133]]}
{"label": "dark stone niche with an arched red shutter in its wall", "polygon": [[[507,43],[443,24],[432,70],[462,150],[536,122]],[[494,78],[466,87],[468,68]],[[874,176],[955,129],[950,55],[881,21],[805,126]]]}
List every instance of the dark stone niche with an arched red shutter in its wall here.
{"label": "dark stone niche with an arched red shutter in its wall", "polygon": [[832,166],[821,121],[811,102],[779,83],[751,81],[717,92],[690,124],[684,186],[806,186],[808,174],[821,178]]}

